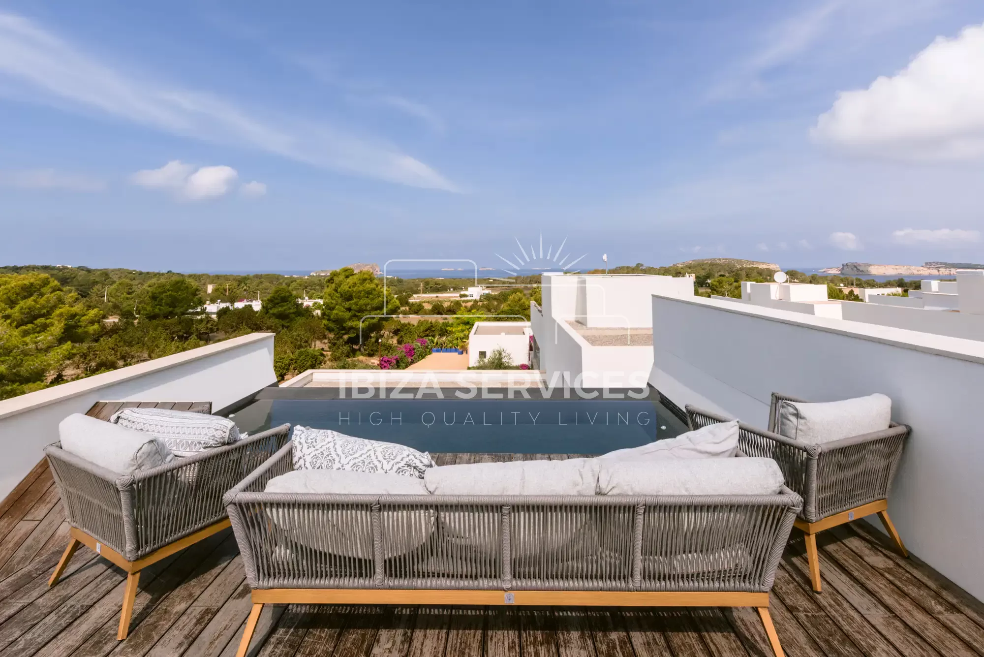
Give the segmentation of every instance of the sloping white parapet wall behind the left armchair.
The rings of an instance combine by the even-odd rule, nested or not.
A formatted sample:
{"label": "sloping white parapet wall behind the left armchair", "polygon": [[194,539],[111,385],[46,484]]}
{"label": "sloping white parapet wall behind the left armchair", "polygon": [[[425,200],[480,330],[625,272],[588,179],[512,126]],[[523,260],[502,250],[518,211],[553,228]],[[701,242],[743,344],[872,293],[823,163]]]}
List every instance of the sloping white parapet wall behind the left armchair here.
{"label": "sloping white parapet wall behind the left armchair", "polygon": [[211,401],[219,410],[277,383],[274,334],[251,333],[0,401],[0,499],[58,440],[58,423],[97,401]]}

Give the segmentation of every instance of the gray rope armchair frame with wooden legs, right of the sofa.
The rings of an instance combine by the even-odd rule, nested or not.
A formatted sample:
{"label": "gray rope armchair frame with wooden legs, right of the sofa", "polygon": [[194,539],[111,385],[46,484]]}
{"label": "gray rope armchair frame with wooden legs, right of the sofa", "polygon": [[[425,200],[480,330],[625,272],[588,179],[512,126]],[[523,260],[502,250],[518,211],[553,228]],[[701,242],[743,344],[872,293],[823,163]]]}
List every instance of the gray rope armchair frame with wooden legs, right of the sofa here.
{"label": "gray rope armchair frame with wooden legs, right of the sofa", "polygon": [[[889,517],[889,492],[909,428],[892,422],[888,429],[852,436],[822,445],[807,445],[775,433],[783,400],[803,401],[772,393],[769,430],[739,423],[738,448],[749,456],[764,456],[778,463],[786,486],[803,497],[795,526],[806,535],[807,559],[813,589],[822,590],[817,534],[845,522],[878,513],[886,531],[903,556],[908,556]],[[691,429],[731,418],[687,406]]]}

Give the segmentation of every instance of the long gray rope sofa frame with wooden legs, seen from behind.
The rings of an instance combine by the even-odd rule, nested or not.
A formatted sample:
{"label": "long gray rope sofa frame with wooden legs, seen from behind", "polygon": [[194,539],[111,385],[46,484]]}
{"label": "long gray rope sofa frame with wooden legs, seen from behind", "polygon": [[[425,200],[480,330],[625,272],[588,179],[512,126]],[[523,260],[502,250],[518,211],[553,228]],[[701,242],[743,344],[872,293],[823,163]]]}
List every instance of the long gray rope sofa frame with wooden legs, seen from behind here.
{"label": "long gray rope sofa frame with wooden legs, seen from behind", "polygon": [[802,507],[744,496],[265,493],[293,442],[225,496],[253,610],[264,604],[756,607]]}

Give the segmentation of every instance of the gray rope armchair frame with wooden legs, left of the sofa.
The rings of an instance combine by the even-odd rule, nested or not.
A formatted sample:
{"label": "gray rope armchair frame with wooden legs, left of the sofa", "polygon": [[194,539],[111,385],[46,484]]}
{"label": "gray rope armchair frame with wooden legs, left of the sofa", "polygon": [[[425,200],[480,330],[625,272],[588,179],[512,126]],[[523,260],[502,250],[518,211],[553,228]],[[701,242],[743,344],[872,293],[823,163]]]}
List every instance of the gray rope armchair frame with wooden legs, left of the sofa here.
{"label": "gray rope armchair frame with wooden legs, left of the sofa", "polygon": [[149,470],[121,475],[65,451],[44,448],[65,514],[69,545],[54,585],[80,545],[127,572],[117,638],[129,633],[140,571],[229,526],[222,495],[266,461],[290,425]]}

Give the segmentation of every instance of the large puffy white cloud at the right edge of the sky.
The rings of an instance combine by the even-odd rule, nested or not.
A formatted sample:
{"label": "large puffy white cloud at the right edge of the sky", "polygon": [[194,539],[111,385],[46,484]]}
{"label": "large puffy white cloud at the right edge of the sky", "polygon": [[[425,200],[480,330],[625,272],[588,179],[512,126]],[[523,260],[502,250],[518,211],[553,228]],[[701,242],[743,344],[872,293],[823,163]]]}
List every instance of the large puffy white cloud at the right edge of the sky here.
{"label": "large puffy white cloud at the right edge of the sky", "polygon": [[811,135],[837,149],[896,159],[984,156],[984,26],[938,37],[867,90],[841,91]]}

